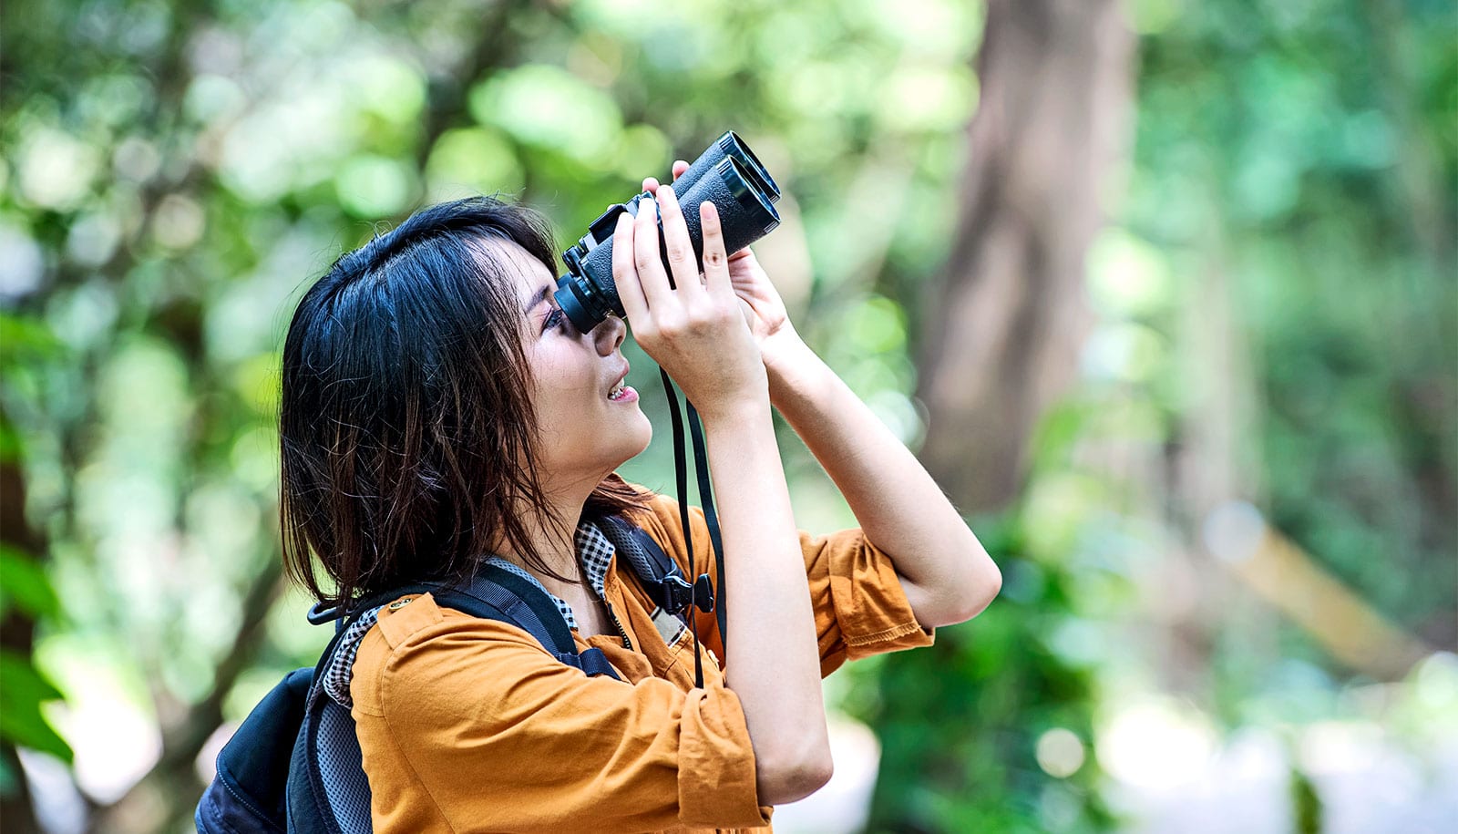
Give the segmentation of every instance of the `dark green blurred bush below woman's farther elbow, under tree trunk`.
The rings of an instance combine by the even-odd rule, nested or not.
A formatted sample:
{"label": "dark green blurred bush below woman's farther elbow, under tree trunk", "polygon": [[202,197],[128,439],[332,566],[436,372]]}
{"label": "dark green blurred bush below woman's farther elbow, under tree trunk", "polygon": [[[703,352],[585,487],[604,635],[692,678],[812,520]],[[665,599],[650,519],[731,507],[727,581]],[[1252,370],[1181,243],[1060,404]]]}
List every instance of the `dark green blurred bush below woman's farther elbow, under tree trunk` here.
{"label": "dark green blurred bush below woman's farther elbow, under tree trunk", "polygon": [[[875,830],[1104,831],[1092,754],[1095,668],[1060,646],[1076,627],[1067,570],[1034,558],[1006,518],[974,525],[1003,593],[936,644],[885,658],[847,707],[882,741]],[[1060,747],[1061,745],[1061,747]]]}

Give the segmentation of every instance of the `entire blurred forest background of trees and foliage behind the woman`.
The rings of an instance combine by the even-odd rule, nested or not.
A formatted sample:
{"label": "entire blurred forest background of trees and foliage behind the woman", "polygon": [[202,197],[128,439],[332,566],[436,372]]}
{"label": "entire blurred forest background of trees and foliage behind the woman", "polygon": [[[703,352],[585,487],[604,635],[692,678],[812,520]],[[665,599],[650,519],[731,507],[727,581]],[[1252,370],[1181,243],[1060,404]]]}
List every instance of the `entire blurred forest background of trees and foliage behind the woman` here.
{"label": "entire blurred forest background of trees and foliage behind the woman", "polygon": [[[1458,815],[1449,0],[12,0],[0,32],[6,834],[188,830],[316,659],[274,430],[311,278],[468,192],[569,242],[725,128],[784,187],[757,251],[800,331],[1006,577],[827,681],[882,747],[869,830]],[[671,490],[633,365],[660,442],[625,475]],[[853,523],[783,440],[800,525]]]}

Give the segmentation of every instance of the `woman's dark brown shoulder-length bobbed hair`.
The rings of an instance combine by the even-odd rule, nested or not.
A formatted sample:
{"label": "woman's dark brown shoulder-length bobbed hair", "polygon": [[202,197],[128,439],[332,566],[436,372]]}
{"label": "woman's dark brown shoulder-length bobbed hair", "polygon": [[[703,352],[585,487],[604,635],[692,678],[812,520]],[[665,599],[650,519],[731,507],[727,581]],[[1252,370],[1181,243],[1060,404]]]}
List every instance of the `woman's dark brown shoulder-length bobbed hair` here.
{"label": "woman's dark brown shoulder-length bobbed hair", "polygon": [[[280,518],[284,570],[316,599],[462,582],[502,541],[567,580],[531,539],[532,525],[566,523],[537,478],[523,318],[502,252],[513,243],[555,274],[535,211],[488,197],[432,206],[340,257],[299,302],[283,348]],[[609,475],[583,518],[643,500]]]}

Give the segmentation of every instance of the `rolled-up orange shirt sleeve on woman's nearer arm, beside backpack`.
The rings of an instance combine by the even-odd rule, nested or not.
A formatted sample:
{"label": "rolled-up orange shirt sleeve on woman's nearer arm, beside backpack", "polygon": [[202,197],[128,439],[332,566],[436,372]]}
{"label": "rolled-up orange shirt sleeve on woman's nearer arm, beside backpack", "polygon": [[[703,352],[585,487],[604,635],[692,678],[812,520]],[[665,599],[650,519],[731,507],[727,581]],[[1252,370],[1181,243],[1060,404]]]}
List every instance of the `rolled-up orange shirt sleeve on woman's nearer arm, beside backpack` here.
{"label": "rolled-up orange shirt sleeve on woman's nearer arm, beside backpack", "polygon": [[[383,620],[378,631],[386,636],[366,637],[362,655],[388,656],[373,672],[367,662],[356,666],[375,691],[360,691],[370,687],[360,678],[351,687],[362,695],[366,771],[370,748],[385,745],[392,749],[373,758],[386,765],[373,770],[418,784],[398,793],[401,802],[429,796],[453,831],[768,824],[730,690],[589,678],[521,628],[440,614],[392,647],[378,644],[391,627]],[[364,732],[369,713],[379,713],[388,732]],[[376,818],[389,817],[389,803],[376,796]]]}

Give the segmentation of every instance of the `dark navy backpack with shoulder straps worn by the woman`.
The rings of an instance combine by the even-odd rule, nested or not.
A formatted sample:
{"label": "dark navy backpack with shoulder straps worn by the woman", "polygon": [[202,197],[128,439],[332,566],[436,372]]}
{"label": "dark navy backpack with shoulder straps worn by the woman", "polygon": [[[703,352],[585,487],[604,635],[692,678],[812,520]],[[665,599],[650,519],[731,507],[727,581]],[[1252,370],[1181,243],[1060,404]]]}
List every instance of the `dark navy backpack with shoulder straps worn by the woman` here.
{"label": "dark navy backpack with shoulder straps worn by the woman", "polygon": [[[617,516],[598,519],[598,525],[659,608],[682,620],[697,598],[701,611],[713,609],[707,574],[690,585],[646,531]],[[577,652],[566,618],[545,591],[494,564],[483,566],[467,588],[410,585],[372,595],[348,612],[315,605],[309,623],[337,621],[334,639],[316,666],[284,675],[223,745],[217,774],[194,814],[200,834],[372,831],[370,789],[354,719],[324,691],[324,671],[348,626],[399,596],[426,592],[443,608],[522,628],[558,660],[589,677],[618,679],[601,649]]]}

